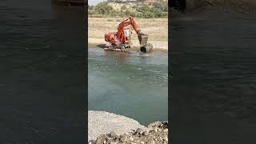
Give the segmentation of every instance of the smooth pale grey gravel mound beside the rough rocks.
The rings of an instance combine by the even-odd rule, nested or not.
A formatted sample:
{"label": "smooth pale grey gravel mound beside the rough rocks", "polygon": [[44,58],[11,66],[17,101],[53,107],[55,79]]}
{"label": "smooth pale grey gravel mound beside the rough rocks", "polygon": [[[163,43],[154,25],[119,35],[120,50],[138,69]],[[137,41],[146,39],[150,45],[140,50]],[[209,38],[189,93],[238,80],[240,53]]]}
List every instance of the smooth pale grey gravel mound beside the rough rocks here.
{"label": "smooth pale grey gravel mound beside the rough rocks", "polygon": [[101,134],[109,134],[114,131],[116,134],[126,134],[130,130],[142,128],[147,130],[145,126],[140,125],[132,118],[126,118],[122,115],[112,114],[105,111],[89,110],[88,113],[88,141],[94,142]]}

